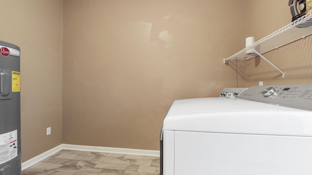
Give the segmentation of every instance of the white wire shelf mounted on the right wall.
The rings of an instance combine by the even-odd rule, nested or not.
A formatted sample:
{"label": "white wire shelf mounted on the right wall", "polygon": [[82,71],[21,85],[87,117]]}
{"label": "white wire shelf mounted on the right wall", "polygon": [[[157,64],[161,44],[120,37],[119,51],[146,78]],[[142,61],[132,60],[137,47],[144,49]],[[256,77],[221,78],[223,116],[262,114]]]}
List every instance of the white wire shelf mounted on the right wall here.
{"label": "white wire shelf mounted on the right wall", "polygon": [[227,63],[227,61],[231,59],[249,60],[257,56],[256,53],[246,54],[246,51],[250,49],[257,51],[257,53],[263,54],[305,38],[309,35],[312,35],[312,12],[254,42],[251,46],[244,48],[234,55],[224,58],[223,63]]}

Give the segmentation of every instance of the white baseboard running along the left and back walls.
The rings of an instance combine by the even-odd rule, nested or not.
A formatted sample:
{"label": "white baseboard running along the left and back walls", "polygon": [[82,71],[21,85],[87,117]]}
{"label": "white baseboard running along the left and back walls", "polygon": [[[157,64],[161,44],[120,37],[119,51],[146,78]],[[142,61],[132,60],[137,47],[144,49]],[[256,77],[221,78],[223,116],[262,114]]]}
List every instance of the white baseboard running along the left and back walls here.
{"label": "white baseboard running along the left and back walls", "polygon": [[118,153],[128,155],[139,155],[139,156],[155,156],[159,157],[159,151],[156,150],[141,150],[141,149],[128,149],[128,148],[112,148],[102,146],[84,146],[84,145],[72,145],[72,144],[60,144],[34,158],[31,158],[21,164],[21,169],[24,170],[37,162],[49,157],[62,149],[77,150],[77,151],[92,151],[92,152],[104,152],[104,153]]}

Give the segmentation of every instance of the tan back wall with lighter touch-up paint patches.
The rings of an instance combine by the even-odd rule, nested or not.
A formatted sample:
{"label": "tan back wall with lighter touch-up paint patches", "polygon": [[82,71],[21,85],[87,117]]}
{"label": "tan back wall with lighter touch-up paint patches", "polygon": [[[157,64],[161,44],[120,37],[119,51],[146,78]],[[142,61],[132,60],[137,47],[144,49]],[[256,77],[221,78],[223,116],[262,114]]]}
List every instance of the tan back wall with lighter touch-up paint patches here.
{"label": "tan back wall with lighter touch-up paint patches", "polygon": [[158,150],[174,100],[242,86],[222,58],[245,45],[245,3],[64,0],[63,143]]}

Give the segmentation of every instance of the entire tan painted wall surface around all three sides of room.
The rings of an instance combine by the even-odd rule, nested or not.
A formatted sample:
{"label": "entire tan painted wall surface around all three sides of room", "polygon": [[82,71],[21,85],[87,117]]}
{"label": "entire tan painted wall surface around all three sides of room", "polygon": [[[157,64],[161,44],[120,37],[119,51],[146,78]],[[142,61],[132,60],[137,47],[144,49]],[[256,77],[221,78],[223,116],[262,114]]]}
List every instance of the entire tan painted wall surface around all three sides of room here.
{"label": "entire tan painted wall surface around all three sides of room", "polygon": [[[291,20],[284,0],[64,0],[64,11],[62,0],[0,2],[1,17],[11,19],[0,40],[21,48],[23,161],[60,144],[62,133],[64,143],[157,150],[175,99],[235,87],[236,63],[221,59],[245,37]],[[266,54],[285,79],[259,59],[238,62],[238,86],[311,83],[311,41]]]}

